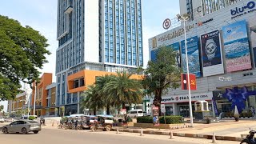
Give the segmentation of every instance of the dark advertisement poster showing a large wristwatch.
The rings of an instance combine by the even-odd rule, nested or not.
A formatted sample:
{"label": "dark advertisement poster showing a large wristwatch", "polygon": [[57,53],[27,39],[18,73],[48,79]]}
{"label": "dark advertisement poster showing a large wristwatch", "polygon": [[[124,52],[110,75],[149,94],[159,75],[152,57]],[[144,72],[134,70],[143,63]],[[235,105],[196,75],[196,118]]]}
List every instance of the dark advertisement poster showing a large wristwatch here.
{"label": "dark advertisement poster showing a large wristwatch", "polygon": [[201,58],[204,77],[224,74],[222,46],[218,30],[201,35]]}

